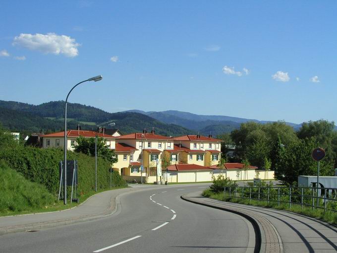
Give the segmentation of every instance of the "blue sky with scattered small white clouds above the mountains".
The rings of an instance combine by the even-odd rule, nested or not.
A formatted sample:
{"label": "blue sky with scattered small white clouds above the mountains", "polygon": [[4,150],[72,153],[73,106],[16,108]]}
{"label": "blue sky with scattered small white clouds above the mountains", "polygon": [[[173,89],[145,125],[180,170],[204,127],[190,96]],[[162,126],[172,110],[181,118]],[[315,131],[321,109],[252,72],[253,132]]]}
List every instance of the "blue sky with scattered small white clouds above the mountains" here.
{"label": "blue sky with scattered small white clouds above the mountains", "polygon": [[0,100],[337,123],[332,0],[2,0]]}

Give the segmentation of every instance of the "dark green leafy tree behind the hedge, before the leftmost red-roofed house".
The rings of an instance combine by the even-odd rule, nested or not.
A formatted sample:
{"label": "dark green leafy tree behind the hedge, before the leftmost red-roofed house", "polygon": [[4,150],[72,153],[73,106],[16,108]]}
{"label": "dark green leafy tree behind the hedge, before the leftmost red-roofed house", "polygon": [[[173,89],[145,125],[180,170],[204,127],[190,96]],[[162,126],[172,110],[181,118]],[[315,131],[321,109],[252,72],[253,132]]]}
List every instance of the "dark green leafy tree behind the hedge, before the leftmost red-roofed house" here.
{"label": "dark green leafy tree behind the hedge, before the leftmost red-roofed house", "polygon": [[[87,155],[95,156],[95,138],[85,138],[78,137],[76,139],[77,145],[75,146],[76,152],[81,152]],[[97,138],[97,156],[102,157],[104,160],[110,162],[111,164],[116,163],[117,157],[110,147],[106,144],[104,138]]]}

